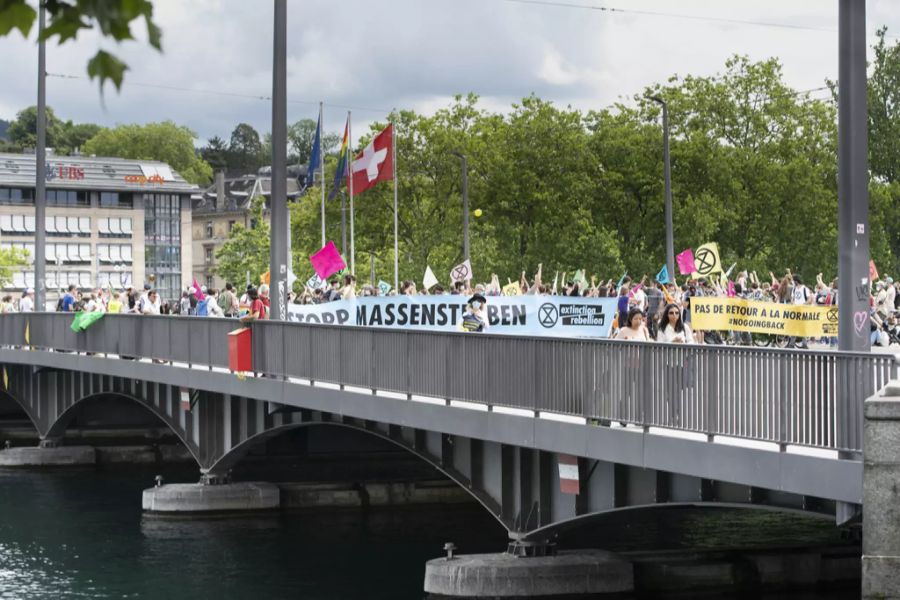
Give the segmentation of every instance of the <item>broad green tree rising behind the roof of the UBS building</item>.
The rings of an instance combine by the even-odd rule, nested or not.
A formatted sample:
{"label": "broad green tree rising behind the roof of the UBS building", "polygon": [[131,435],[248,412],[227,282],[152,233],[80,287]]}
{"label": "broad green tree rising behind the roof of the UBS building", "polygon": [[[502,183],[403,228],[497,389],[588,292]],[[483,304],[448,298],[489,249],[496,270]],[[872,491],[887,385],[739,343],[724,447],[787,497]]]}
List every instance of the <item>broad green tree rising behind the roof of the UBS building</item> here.
{"label": "broad green tree rising behind the roof of the UBS building", "polygon": [[84,154],[116,156],[136,160],[158,160],[178,171],[186,181],[208,184],[212,167],[197,155],[187,127],[172,121],[146,125],[119,125],[104,129],[84,144]]}

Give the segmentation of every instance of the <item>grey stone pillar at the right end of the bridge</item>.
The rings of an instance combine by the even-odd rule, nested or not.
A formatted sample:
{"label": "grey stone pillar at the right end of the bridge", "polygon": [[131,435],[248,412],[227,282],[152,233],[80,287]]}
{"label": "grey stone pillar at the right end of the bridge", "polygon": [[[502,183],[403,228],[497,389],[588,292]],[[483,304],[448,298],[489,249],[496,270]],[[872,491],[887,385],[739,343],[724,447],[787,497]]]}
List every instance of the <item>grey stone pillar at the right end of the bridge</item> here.
{"label": "grey stone pillar at the right end of the bridge", "polygon": [[900,598],[900,383],[865,403],[862,597]]}

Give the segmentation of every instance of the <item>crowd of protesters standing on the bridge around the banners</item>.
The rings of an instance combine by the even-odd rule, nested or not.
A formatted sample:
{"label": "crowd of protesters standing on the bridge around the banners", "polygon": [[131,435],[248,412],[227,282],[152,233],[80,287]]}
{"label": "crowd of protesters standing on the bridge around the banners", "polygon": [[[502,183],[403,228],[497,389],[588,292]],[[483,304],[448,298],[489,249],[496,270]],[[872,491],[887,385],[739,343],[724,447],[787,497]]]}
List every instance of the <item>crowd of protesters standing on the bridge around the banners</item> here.
{"label": "crowd of protesters standing on the bridge around the banners", "polygon": [[[509,280],[508,280],[509,281]],[[668,343],[721,343],[720,332],[695,331],[691,326],[691,299],[705,296],[736,297],[747,300],[775,302],[793,305],[834,306],[838,301],[837,280],[826,282],[822,275],[809,288],[803,279],[790,270],[778,278],[769,273],[768,280],[760,280],[755,272],[742,271],[733,281],[723,285],[717,277],[686,279],[682,284],[659,282],[644,276],[640,280],[623,276],[617,283],[613,280],[597,282],[591,278],[588,283],[581,273],[567,278],[554,277],[551,284],[542,279],[542,269],[538,268],[532,279],[523,272],[518,282],[510,281],[501,285],[497,275],[489,283],[472,284],[457,281],[444,287],[434,284],[428,289],[419,289],[416,282],[403,281],[399,290],[387,290],[372,284],[357,285],[356,277],[350,274],[333,278],[315,289],[304,288],[300,293],[290,294],[289,301],[297,304],[320,304],[336,300],[350,300],[357,297],[381,295],[460,295],[467,297],[469,310],[464,319],[463,329],[483,331],[487,327],[484,318],[485,306],[491,296],[503,295],[556,295],[581,296],[590,298],[617,298],[616,315],[613,321],[612,337],[621,340],[660,341]],[[870,299],[872,320],[872,343],[887,346],[900,344],[900,281],[890,277],[877,281]],[[0,299],[0,313],[31,312],[35,309],[34,292],[26,289],[21,297],[14,299],[6,295]],[[207,289],[205,286],[187,286],[181,297],[163,300],[157,290],[145,284],[142,290],[128,287],[121,291],[100,286],[84,293],[71,285],[61,293],[57,310],[62,312],[108,312],[142,315],[191,315],[199,317],[239,318],[242,320],[266,319],[269,317],[269,286],[247,285],[243,291],[226,283],[222,290]],[[730,341],[751,343],[750,334],[731,332]],[[835,343],[835,340],[823,340]],[[788,345],[805,347],[805,340],[787,340]]]}

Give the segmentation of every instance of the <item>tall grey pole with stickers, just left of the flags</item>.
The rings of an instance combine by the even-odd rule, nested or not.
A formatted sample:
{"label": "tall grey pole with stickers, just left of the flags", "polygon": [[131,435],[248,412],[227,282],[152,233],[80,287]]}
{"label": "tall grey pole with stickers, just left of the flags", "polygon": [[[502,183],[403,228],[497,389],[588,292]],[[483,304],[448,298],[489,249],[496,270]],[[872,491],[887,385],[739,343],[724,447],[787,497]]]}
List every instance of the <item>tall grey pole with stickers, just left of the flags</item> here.
{"label": "tall grey pole with stickers, just left of the flags", "polygon": [[269,250],[270,318],[287,320],[290,265],[287,210],[287,0],[274,0],[272,56],[272,240]]}

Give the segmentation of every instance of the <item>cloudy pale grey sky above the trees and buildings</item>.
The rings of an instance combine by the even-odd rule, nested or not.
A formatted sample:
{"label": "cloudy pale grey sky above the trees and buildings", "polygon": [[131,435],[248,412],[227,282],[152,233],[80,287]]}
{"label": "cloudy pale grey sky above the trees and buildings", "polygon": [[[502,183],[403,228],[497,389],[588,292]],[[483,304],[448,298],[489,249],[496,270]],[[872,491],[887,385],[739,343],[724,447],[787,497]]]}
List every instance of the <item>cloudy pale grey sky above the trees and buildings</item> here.
{"label": "cloudy pale grey sky above the trees and buildings", "polygon": [[[598,108],[672,74],[714,74],[735,53],[779,57],[796,89],[837,78],[838,0],[530,2],[288,0],[288,119],[315,118],[323,100],[329,130],[342,129],[351,108],[361,132],[391,107],[431,112],[470,91],[490,109],[530,93]],[[48,46],[48,73],[67,76],[48,78],[48,104],[63,118],[109,126],[172,119],[193,128],[199,143],[227,139],[242,121],[268,131],[270,106],[258,97],[272,87],[272,3],[154,4],[163,53],[143,43],[116,47],[90,33]],[[579,4],[628,12],[573,7]],[[868,24],[871,39],[882,25],[900,35],[900,2],[868,0]],[[0,118],[35,103],[34,38],[0,39]],[[85,78],[98,47],[130,66],[122,92],[108,88],[105,102]]]}

